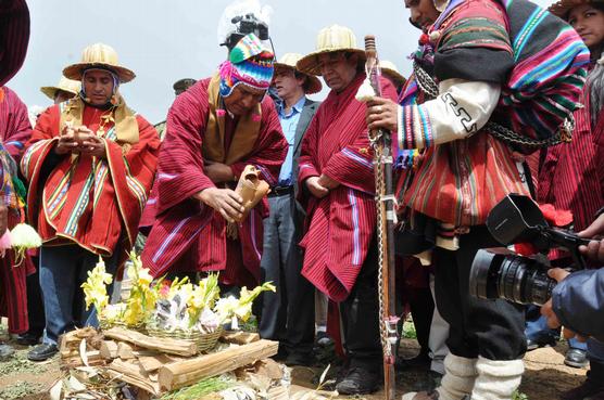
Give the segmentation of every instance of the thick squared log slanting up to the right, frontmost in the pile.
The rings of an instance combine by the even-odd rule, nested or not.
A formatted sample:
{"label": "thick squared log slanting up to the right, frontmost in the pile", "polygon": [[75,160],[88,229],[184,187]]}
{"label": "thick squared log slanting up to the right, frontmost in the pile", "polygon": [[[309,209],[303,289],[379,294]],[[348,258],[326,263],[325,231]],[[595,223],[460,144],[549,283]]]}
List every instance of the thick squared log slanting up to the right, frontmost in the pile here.
{"label": "thick squared log slanting up to the right, frontmost in the pile", "polygon": [[166,390],[175,390],[201,379],[253,364],[257,360],[275,356],[278,347],[277,341],[263,339],[212,354],[163,365],[160,367],[159,374],[160,387]]}

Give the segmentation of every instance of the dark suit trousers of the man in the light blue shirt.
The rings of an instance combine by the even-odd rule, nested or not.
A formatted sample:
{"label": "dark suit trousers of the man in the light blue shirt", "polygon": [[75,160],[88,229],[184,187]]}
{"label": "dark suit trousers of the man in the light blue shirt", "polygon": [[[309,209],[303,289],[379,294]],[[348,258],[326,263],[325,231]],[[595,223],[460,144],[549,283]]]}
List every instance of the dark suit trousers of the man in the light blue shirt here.
{"label": "dark suit trousers of the man in the light blue shirt", "polygon": [[270,215],[264,220],[261,280],[276,293],[262,295],[260,336],[278,340],[288,352],[310,353],[315,334],[314,286],[301,274],[302,250],[293,194],[268,197]]}

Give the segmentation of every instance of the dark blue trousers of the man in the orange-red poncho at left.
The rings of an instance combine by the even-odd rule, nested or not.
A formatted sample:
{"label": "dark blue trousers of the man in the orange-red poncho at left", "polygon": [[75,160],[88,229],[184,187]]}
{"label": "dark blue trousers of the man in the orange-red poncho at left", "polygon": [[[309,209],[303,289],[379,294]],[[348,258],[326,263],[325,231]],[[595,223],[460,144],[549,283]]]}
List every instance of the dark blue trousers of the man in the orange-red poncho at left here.
{"label": "dark blue trousers of the man in the orange-red poncho at left", "polygon": [[[76,245],[40,248],[40,286],[45,300],[45,344],[56,344],[59,336],[76,326],[97,326],[95,307],[86,309],[80,285],[88,278],[99,256]],[[117,267],[114,253],[104,259],[105,270],[113,274]],[[108,286],[111,296],[112,285]]]}

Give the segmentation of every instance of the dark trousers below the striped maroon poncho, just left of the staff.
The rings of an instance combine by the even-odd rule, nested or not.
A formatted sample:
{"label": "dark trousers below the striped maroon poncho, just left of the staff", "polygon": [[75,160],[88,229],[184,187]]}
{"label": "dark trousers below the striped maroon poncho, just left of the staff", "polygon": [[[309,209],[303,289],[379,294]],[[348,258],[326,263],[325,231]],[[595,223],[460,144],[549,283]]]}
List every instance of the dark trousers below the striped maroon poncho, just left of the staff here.
{"label": "dark trousers below the striped maroon poncho, just left of the staff", "polygon": [[377,292],[378,247],[374,238],[350,296],[340,304],[344,347],[350,366],[381,371]]}

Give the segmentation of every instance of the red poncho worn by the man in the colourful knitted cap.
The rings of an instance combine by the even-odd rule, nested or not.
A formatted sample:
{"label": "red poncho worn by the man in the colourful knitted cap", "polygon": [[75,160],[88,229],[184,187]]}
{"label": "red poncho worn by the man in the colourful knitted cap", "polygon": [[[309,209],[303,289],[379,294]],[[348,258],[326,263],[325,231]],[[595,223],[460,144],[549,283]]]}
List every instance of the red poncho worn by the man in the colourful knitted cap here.
{"label": "red poncho worn by the man in the colourful knitted cap", "polygon": [[[142,261],[154,276],[168,271],[223,271],[221,281],[225,284],[255,285],[260,280],[262,219],[267,215],[266,199],[238,225],[238,240],[229,240],[225,219],[192,198],[202,190],[214,186],[203,172],[202,151],[209,134],[210,82],[210,79],[204,79],[189,88],[169,109],[153,190],[156,197],[150,201],[156,219],[149,233]],[[231,145],[248,138],[238,136],[237,122],[228,114],[222,112],[217,116],[226,119],[222,143],[225,153],[229,153],[225,144],[229,138]],[[287,142],[269,98],[261,103],[257,118],[260,120],[254,122],[260,122],[260,129],[251,152],[230,164],[230,168],[239,177],[246,165],[254,165],[262,170],[269,184],[275,184],[286,156]]]}

